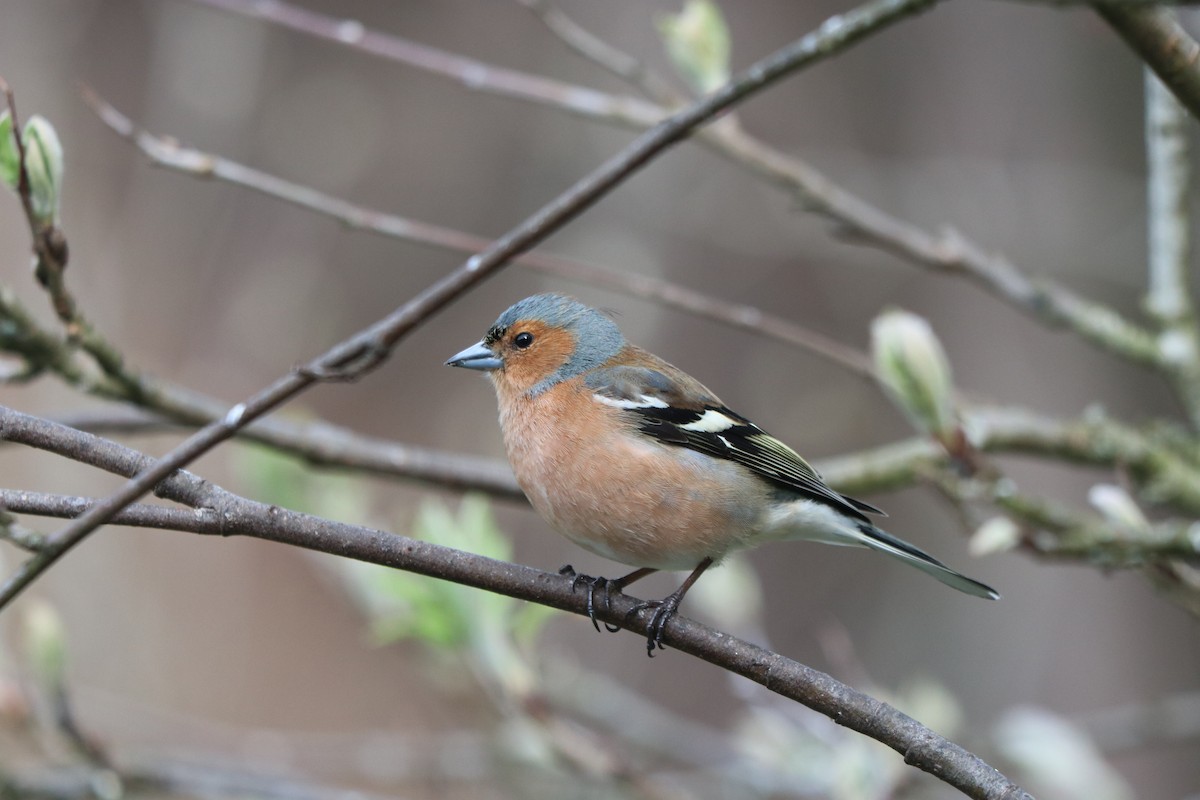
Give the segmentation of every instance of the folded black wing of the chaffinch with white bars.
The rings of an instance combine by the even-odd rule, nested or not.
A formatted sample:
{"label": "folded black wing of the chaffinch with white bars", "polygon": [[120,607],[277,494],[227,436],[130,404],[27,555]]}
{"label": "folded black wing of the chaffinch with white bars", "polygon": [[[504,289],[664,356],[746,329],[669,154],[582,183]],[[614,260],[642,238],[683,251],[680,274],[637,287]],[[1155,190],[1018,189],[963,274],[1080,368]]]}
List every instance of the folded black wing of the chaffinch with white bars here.
{"label": "folded black wing of the chaffinch with white bars", "polygon": [[775,486],[864,522],[864,511],[882,513],[830,489],[798,452],[666,362],[600,368],[586,383],[598,402],[630,415],[637,429],[653,439],[727,458]]}

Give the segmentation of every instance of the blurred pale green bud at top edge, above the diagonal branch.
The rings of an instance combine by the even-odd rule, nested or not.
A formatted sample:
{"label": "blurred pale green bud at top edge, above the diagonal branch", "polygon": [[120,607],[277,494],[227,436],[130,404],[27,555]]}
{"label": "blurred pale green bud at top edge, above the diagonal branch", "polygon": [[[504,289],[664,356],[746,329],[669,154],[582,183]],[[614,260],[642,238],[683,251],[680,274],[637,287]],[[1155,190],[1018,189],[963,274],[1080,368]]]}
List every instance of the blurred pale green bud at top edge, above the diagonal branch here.
{"label": "blurred pale green bud at top edge, above the diagonal branch", "polygon": [[688,0],[659,20],[667,56],[694,90],[707,94],[730,79],[730,29],[713,0]]}

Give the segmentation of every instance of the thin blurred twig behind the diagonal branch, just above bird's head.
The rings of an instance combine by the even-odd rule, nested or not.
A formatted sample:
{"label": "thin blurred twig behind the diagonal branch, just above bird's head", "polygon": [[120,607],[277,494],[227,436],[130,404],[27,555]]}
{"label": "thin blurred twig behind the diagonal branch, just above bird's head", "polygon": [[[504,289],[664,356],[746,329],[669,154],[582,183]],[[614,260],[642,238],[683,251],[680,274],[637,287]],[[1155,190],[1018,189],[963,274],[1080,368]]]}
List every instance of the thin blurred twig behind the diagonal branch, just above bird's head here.
{"label": "thin blurred twig behind the diagonal branch, just above bird's head", "polygon": [[[210,178],[241,186],[337,219],[355,230],[438,247],[455,253],[474,254],[482,252],[491,245],[491,240],[474,234],[354,205],[348,200],[283,180],[246,164],[185,148],[173,137],[157,136],[138,127],[86,86],[83,90],[83,96],[104,125],[121,138],[133,143],[155,166],[194,178]],[[670,308],[792,344],[862,378],[871,378],[874,374],[870,357],[860,350],[782,317],[769,314],[755,306],[713,297],[680,284],[652,277],[644,271],[622,272],[598,264],[587,264],[536,251],[514,258],[512,261],[538,272],[605,287],[634,297],[653,300]]]}

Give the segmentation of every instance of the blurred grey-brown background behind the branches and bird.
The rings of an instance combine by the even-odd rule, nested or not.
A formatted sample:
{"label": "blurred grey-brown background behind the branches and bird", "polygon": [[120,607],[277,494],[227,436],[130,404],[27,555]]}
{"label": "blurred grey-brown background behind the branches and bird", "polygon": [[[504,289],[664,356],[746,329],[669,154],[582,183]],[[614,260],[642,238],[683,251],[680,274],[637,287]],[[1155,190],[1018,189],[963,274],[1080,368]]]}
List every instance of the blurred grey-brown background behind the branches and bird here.
{"label": "blurred grey-brown background behind the branches and bird", "polygon": [[[487,64],[634,92],[570,53],[515,2],[304,6]],[[562,7],[671,73],[658,20],[679,4],[571,0]],[[830,0],[724,4],[733,67],[850,7]],[[487,237],[635,136],[182,0],[0,0],[0,76],[23,115],[49,118],[62,139],[68,279],[84,313],[131,363],[228,403],[391,311],[462,259],[152,168],[80,101],[82,83],[155,133],[365,206]],[[738,113],[752,136],[888,212],[934,231],[952,225],[1030,273],[1139,313],[1142,71],[1087,10],[944,4],[785,80]],[[752,303],[857,348],[868,345],[871,319],[899,306],[931,321],[956,384],[972,396],[1064,417],[1099,405],[1133,423],[1182,420],[1148,372],[1048,330],[965,281],[839,237],[784,192],[694,144],[655,161],[545,249]],[[4,283],[53,326],[26,271],[28,228],[11,196],[0,203],[0,254]],[[912,435],[874,384],[809,353],[520,266],[439,313],[364,380],[319,386],[284,413],[503,458],[490,386],[442,363],[512,301],[541,290],[612,309],[630,339],[703,380],[818,468],[823,458]],[[41,415],[106,408],[49,378],[0,389],[0,397]],[[161,453],[178,438],[127,440]],[[1092,485],[1112,480],[1034,459],[1002,463],[1019,483],[1072,506],[1085,506]],[[235,445],[194,469],[234,492],[274,500],[265,497],[274,489],[260,480],[260,467],[262,453]],[[118,485],[12,449],[0,453],[0,476],[7,487],[72,494]],[[306,487],[310,500],[323,492],[341,498],[320,512],[397,533],[413,530],[431,498],[451,510],[461,499],[329,471],[298,470],[276,479],[276,488],[280,480]],[[745,559],[761,582],[761,630],[730,632],[868,691],[936,686],[956,705],[956,740],[978,745],[1002,769],[1006,756],[995,742],[1003,726],[1052,728],[1031,723],[1031,715],[1086,724],[1112,709],[1174,708],[1180,698],[1192,698],[1194,709],[1196,620],[1138,575],[1021,553],[973,559],[966,552],[971,531],[934,492],[864,499],[887,509],[893,533],[995,585],[1003,600],[958,595],[865,552],[773,546]],[[497,501],[492,512],[521,563],[625,571],[572,548],[522,505]],[[17,552],[6,548],[2,558],[11,570]],[[331,561],[264,542],[109,528],[22,602],[36,596],[58,610],[78,716],[118,758],[211,759],[413,798],[617,792],[588,776],[523,782],[520,774],[530,768],[522,759],[535,757],[492,752],[488,732],[503,728],[505,714],[487,681],[443,668],[448,656],[420,640],[377,645]],[[661,596],[680,578],[655,576],[636,594]],[[702,616],[704,604],[684,610]],[[7,668],[17,675],[24,674],[19,609],[0,621]],[[611,681],[596,691],[611,691],[614,706],[624,703],[616,699],[619,688],[668,710],[678,730],[728,735],[731,759],[745,744],[731,732],[744,734],[738,726],[755,718],[746,709],[779,710],[708,664],[673,651],[650,661],[638,638],[598,636],[580,618],[548,621],[536,651],[574,664],[576,675]],[[582,678],[562,674],[584,691],[571,684]],[[816,715],[786,714],[790,724],[820,727],[808,717]],[[750,726],[758,735],[772,730],[762,720]],[[716,759],[725,758],[719,742]],[[871,764],[904,769],[899,757],[878,750]],[[1067,787],[1039,796],[1200,796],[1194,733],[1112,747],[1104,759],[1115,770],[1104,778],[1111,794],[1070,794]],[[653,774],[656,766],[637,769]],[[664,796],[745,796],[736,781],[689,786],[689,770],[678,771],[677,788],[691,794]],[[900,788],[882,786],[894,796],[954,796],[907,772]],[[814,786],[817,796],[893,796],[893,789]],[[642,796],[635,788],[617,794]],[[792,794],[779,789],[778,796]]]}

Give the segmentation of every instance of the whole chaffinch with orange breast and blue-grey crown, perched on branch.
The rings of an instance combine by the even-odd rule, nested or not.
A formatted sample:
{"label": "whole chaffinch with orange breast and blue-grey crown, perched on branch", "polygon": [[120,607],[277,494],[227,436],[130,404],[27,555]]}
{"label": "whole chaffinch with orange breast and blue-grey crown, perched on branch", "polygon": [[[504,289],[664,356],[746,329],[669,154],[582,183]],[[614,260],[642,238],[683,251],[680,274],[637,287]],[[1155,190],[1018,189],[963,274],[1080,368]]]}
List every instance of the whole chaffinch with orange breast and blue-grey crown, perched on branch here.
{"label": "whole chaffinch with orange breast and blue-grey crown, perched on branch", "polygon": [[521,300],[446,365],[491,378],[509,462],[546,522],[638,567],[616,581],[577,576],[593,625],[598,589],[607,599],[652,572],[691,570],[674,593],[635,609],[654,609],[650,655],[704,570],[772,541],[869,547],[959,591],[1000,597],[871,524],[878,509],[830,489],[794,450],[572,297]]}

